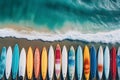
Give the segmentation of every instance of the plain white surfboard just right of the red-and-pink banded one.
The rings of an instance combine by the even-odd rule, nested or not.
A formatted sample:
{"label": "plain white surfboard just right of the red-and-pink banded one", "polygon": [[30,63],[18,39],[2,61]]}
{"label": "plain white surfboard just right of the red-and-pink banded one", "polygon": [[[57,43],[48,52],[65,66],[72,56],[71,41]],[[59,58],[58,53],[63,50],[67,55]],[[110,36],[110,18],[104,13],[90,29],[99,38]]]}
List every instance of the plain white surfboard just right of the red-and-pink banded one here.
{"label": "plain white surfboard just right of the red-and-pink banded one", "polygon": [[64,45],[62,49],[62,76],[64,80],[66,79],[67,76],[67,64],[68,64],[67,48]]}

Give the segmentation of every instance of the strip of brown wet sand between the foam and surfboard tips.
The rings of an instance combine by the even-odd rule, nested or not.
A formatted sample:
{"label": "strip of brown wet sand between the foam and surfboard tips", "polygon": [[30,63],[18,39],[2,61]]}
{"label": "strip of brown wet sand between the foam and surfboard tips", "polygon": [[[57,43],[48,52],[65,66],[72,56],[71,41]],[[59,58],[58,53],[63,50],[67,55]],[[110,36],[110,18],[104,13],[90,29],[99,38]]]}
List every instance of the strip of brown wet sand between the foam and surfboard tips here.
{"label": "strip of brown wet sand between the foam and surfboard tips", "polygon": [[[7,47],[11,46],[12,49],[14,47],[14,45],[18,43],[20,50],[21,48],[25,48],[26,52],[28,51],[28,47],[31,46],[33,51],[35,50],[36,47],[38,47],[40,49],[40,52],[42,51],[42,47],[45,46],[47,48],[47,50],[49,49],[50,45],[53,45],[54,50],[57,44],[60,44],[61,49],[63,47],[63,45],[66,45],[67,50],[69,50],[70,46],[73,46],[75,48],[75,50],[77,49],[77,46],[80,45],[83,49],[85,45],[88,45],[89,47],[91,47],[91,45],[94,45],[96,50],[98,50],[99,46],[102,45],[102,47],[104,48],[106,45],[109,46],[109,49],[111,49],[112,46],[115,46],[116,49],[119,47],[120,44],[115,43],[115,44],[106,44],[106,43],[95,43],[95,42],[84,42],[84,41],[79,41],[79,40],[63,40],[63,41],[42,41],[42,40],[27,40],[24,38],[12,38],[12,37],[6,37],[6,38],[0,38],[0,50],[2,49],[3,46]],[[55,75],[54,75],[55,77]],[[84,75],[83,75],[83,79],[84,79]]]}

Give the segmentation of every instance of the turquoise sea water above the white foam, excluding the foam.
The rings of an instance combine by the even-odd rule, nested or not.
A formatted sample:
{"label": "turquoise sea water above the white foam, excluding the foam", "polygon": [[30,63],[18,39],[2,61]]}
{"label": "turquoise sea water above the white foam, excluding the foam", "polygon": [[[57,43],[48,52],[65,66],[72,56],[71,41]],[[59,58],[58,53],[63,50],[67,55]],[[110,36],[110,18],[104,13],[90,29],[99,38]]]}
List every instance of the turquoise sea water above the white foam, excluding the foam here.
{"label": "turquoise sea water above the white foam, excluding the foam", "polygon": [[0,23],[33,29],[47,26],[51,31],[66,23],[83,32],[116,30],[120,0],[0,0]]}

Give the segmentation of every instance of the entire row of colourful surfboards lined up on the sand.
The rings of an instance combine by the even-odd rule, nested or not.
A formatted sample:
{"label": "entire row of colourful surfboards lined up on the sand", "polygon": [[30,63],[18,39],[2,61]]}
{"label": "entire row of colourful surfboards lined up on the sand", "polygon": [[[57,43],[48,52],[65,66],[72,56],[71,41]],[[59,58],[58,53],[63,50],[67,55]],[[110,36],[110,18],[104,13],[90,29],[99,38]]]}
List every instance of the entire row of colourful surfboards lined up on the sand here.
{"label": "entire row of colourful surfboards lined up on the sand", "polygon": [[48,52],[46,47],[43,47],[42,53],[40,53],[39,48],[36,48],[33,52],[31,47],[29,47],[27,53],[24,48],[19,52],[18,44],[14,46],[13,51],[10,46],[7,50],[6,47],[2,48],[0,79],[5,72],[6,79],[9,79],[10,74],[15,79],[18,74],[19,79],[22,80],[25,73],[27,73],[26,77],[28,79],[32,79],[34,73],[36,79],[41,75],[44,80],[48,73],[49,79],[52,80],[54,72],[56,79],[59,79],[61,71],[64,80],[67,75],[70,80],[73,80],[75,72],[79,80],[82,79],[83,73],[86,80],[94,79],[97,72],[99,79],[102,79],[103,73],[105,78],[109,79],[109,73],[111,73],[112,79],[115,80],[117,72],[120,77],[120,48],[117,53],[115,47],[109,50],[106,46],[103,50],[100,46],[98,52],[96,52],[94,46],[89,49],[87,45],[84,50],[81,46],[78,46],[76,52],[73,46],[67,51],[66,46],[61,49],[59,44],[57,44],[55,51],[52,46],[50,46]]}

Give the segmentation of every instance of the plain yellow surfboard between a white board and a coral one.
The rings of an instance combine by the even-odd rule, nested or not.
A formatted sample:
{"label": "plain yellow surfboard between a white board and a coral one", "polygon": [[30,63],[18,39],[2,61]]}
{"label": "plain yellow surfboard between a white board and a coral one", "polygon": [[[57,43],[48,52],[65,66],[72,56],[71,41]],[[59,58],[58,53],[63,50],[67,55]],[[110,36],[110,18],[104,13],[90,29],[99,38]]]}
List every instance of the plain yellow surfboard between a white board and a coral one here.
{"label": "plain yellow surfboard between a white board and a coral one", "polygon": [[32,79],[33,74],[33,51],[32,48],[29,47],[27,53],[27,78]]}

